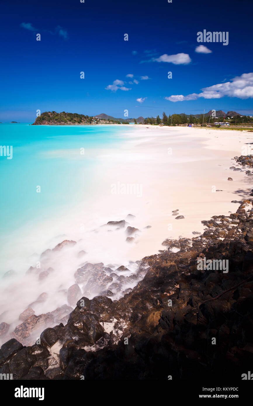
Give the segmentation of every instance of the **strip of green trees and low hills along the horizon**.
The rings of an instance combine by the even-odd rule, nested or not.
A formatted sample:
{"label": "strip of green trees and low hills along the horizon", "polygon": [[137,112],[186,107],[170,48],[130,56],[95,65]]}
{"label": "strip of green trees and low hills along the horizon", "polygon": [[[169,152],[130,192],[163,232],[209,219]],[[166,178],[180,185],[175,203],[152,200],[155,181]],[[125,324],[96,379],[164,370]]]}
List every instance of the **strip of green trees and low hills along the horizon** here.
{"label": "strip of green trees and low hills along the horizon", "polygon": [[[141,125],[166,125],[166,126],[187,126],[189,124],[195,127],[214,127],[219,128],[221,125],[216,125],[216,122],[227,122],[230,126],[236,128],[253,127],[252,116],[242,116],[240,113],[234,111],[228,111],[227,113],[222,110],[216,111],[216,117],[212,117],[212,111],[210,110],[205,114],[165,114],[163,112],[162,118],[159,115],[155,117],[138,117],[130,119],[117,119],[107,114],[98,114],[97,116],[88,116],[78,113],[61,112],[43,112],[37,117],[32,125],[104,125],[104,124],[141,124]],[[224,126],[225,127],[225,126]]]}

